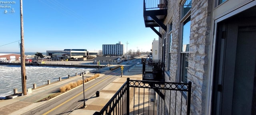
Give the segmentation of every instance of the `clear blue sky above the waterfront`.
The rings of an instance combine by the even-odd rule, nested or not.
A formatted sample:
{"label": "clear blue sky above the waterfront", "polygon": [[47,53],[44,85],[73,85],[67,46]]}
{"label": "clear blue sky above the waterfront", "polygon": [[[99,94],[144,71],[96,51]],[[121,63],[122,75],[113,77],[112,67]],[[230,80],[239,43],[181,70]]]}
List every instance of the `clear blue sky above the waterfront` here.
{"label": "clear blue sky above the waterfront", "polygon": [[[15,12],[0,8],[0,52],[20,52],[20,0],[7,1],[15,4],[0,5]],[[150,52],[158,40],[145,27],[143,0],[23,0],[23,18],[25,52],[98,51],[102,44],[118,42],[126,52],[127,41],[128,50]]]}

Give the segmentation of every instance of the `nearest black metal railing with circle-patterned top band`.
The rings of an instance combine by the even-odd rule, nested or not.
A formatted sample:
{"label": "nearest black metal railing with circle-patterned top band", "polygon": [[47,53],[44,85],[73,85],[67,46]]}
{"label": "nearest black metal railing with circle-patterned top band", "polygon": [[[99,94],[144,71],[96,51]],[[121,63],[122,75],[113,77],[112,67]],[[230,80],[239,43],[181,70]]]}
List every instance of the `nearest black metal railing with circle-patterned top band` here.
{"label": "nearest black metal railing with circle-patterned top band", "polygon": [[[191,82],[130,80],[94,115],[190,115]],[[160,98],[157,91],[164,94]]]}

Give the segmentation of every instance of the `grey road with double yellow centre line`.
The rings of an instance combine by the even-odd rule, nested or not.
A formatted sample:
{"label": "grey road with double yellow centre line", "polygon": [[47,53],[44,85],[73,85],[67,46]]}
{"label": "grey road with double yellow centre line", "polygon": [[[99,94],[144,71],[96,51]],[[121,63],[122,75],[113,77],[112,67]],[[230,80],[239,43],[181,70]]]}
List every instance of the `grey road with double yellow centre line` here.
{"label": "grey road with double yellow centre line", "polygon": [[[130,67],[129,65],[134,65],[138,59],[134,59],[130,63],[124,62],[128,66],[124,66],[124,71]],[[89,98],[97,98],[92,97],[96,91],[100,91],[106,85],[111,83],[120,75],[116,75],[114,73],[121,73],[121,70],[115,69],[110,72],[108,75],[103,75],[98,77],[94,80],[91,80],[84,84],[84,93],[85,93],[85,100]],[[49,100],[47,103],[40,105],[22,115],[68,115],[75,109],[79,109],[83,106],[84,103],[84,95],[83,95],[83,87],[80,85],[59,97]],[[85,102],[86,103],[86,102]]]}

